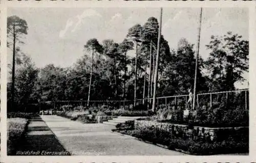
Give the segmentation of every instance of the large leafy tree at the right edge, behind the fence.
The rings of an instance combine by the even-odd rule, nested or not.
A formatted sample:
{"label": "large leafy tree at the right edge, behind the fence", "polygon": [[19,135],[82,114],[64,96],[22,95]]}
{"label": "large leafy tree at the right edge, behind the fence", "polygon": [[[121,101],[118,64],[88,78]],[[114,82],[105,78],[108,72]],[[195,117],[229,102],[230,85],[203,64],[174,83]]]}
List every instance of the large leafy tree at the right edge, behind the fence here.
{"label": "large leafy tree at the right edge, behind the fence", "polygon": [[205,61],[211,89],[233,90],[234,83],[244,81],[243,73],[248,72],[249,42],[242,36],[227,32],[224,36],[211,36],[206,48],[211,50]]}

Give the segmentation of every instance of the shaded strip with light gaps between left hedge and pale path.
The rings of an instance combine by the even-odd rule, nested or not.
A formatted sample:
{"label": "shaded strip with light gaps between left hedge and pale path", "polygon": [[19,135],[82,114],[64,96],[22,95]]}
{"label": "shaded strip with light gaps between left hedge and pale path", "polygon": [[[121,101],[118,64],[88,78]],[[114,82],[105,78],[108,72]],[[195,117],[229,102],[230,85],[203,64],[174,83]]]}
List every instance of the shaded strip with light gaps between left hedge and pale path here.
{"label": "shaded strip with light gaps between left hedge and pale path", "polygon": [[70,155],[39,116],[29,120],[26,134],[11,155]]}

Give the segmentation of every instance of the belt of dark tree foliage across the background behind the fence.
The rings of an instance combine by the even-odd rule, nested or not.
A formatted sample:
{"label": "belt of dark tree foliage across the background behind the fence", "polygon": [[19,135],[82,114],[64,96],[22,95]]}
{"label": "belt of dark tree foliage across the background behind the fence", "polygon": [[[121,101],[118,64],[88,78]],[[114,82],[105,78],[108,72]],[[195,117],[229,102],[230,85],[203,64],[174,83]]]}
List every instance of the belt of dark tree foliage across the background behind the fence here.
{"label": "belt of dark tree foliage across the background behind the fence", "polygon": [[[20,25],[24,25],[20,27],[20,32],[26,34],[26,21],[18,21]],[[8,22],[8,35],[12,34],[12,22],[11,19]],[[158,30],[157,18],[150,17],[144,25],[132,26],[120,43],[108,38],[102,42],[96,38],[89,39],[83,46],[84,55],[70,67],[48,64],[36,68],[30,58],[21,58],[15,84],[15,103],[24,105],[19,108],[22,110],[26,108],[27,103],[37,103],[38,100],[87,100],[89,92],[90,100],[133,100],[135,96],[137,99],[146,97],[146,92],[151,97]],[[206,61],[199,58],[197,93],[232,90],[234,82],[244,80],[242,74],[248,71],[247,40],[228,32],[221,37],[212,36],[206,48],[210,50],[210,57]],[[196,64],[194,49],[194,45],[186,38],[179,40],[177,49],[171,49],[164,36],[160,37],[157,96],[184,95],[188,94],[189,88],[193,89]],[[11,95],[9,82],[8,108]],[[206,101],[202,102],[208,105]],[[151,104],[148,106],[151,107]],[[133,109],[147,110],[148,106],[144,103]],[[163,107],[159,106],[158,109]],[[114,104],[113,108],[119,108],[119,104]],[[89,109],[95,113],[99,110],[81,106],[72,106],[71,109]],[[108,107],[101,111],[112,114],[111,110],[112,108]],[[163,115],[167,116],[165,113]]]}

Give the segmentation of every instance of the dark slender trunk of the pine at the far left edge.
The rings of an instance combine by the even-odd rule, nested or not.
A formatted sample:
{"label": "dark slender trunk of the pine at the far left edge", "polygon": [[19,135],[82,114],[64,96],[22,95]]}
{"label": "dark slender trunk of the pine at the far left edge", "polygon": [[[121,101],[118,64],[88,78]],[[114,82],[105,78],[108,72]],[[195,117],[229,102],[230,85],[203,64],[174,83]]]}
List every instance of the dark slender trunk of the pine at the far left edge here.
{"label": "dark slender trunk of the pine at the far left edge", "polygon": [[11,109],[14,109],[14,86],[15,86],[15,43],[16,43],[16,35],[15,35],[15,27],[13,26],[13,52],[12,52],[12,87],[11,87]]}

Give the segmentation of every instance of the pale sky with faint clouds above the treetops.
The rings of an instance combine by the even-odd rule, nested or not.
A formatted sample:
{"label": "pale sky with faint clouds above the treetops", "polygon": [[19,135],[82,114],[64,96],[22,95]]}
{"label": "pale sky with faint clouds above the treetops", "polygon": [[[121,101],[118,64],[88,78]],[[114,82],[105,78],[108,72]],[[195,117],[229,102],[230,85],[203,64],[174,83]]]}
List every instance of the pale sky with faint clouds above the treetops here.
{"label": "pale sky with faint clouds above the treetops", "polygon": [[[37,67],[50,63],[67,67],[83,55],[83,45],[89,39],[120,43],[129,28],[143,26],[152,16],[159,19],[159,12],[159,8],[9,8],[8,16],[27,21],[28,35],[20,46]],[[199,13],[200,8],[163,8],[162,35],[170,49],[176,50],[182,37],[196,44]],[[222,36],[231,31],[248,40],[248,26],[247,8],[203,8],[199,55],[204,59],[209,56],[205,45],[211,35]],[[11,61],[10,51],[8,60]],[[244,76],[249,77],[248,73]]]}

